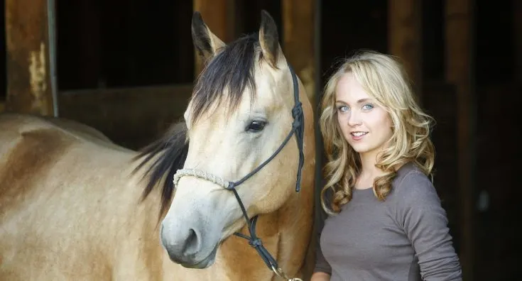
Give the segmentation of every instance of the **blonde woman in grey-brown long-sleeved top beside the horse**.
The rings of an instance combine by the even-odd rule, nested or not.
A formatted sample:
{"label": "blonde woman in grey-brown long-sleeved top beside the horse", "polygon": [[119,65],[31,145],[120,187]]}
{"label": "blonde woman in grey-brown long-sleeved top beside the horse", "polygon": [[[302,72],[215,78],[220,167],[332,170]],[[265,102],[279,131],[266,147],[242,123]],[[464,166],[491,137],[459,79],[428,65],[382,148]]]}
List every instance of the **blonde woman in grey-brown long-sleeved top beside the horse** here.
{"label": "blonde woman in grey-brown long-sleeved top beside the horse", "polygon": [[432,119],[407,81],[391,56],[364,52],[327,82],[320,128],[328,216],[312,281],[462,280],[429,177]]}

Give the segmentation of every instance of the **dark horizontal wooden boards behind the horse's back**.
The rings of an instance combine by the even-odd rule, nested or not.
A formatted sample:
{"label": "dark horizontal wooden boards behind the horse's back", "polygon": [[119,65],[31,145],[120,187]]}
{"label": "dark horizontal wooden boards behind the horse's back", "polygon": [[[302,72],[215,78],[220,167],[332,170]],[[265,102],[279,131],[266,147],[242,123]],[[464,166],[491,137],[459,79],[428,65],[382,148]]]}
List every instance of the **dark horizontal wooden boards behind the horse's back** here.
{"label": "dark horizontal wooden boards behind the horse's back", "polygon": [[86,89],[60,94],[60,117],[97,128],[115,143],[140,148],[179,121],[192,85]]}

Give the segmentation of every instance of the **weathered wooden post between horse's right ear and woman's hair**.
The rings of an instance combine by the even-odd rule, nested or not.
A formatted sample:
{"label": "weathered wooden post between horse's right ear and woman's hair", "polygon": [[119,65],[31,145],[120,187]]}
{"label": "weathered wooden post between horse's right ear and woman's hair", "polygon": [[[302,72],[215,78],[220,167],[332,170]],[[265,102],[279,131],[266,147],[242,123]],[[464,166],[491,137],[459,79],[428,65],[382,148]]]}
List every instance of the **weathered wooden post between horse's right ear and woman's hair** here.
{"label": "weathered wooden post between horse's right ear and woman's hair", "polygon": [[317,104],[315,68],[318,60],[315,52],[315,8],[314,0],[282,1],[283,52],[303,82],[314,108]]}

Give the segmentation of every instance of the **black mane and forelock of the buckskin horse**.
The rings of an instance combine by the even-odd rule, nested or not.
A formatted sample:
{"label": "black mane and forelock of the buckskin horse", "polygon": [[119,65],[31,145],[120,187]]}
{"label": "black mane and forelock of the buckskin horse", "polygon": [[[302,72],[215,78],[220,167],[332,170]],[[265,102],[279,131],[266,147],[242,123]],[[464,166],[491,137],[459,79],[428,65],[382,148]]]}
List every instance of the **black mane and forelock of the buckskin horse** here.
{"label": "black mane and forelock of the buckskin horse", "polygon": [[[256,53],[259,53],[259,59],[262,58],[259,48],[258,35],[246,35],[227,45],[210,60],[198,77],[192,94],[192,123],[199,119],[209,106],[222,100],[225,89],[232,108],[239,104],[246,87],[254,98]],[[136,156],[136,160],[143,158],[136,170],[155,159],[144,174],[148,179],[142,199],[146,199],[153,188],[163,180],[160,216],[168,209],[172,199],[173,176],[185,164],[188,145],[187,126],[185,121],[181,121],[175,123],[162,138],[143,148]]]}

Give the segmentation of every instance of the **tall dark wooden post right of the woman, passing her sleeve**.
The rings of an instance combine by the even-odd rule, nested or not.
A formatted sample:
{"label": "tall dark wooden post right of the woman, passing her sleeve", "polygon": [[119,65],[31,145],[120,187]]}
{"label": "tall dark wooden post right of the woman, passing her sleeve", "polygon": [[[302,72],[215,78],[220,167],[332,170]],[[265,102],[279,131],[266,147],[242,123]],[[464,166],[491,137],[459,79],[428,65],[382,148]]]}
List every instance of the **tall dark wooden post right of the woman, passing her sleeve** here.
{"label": "tall dark wooden post right of the woman, passing her sleeve", "polygon": [[474,280],[474,14],[473,1],[445,1],[446,80],[457,90],[457,167],[460,191],[460,260]]}

